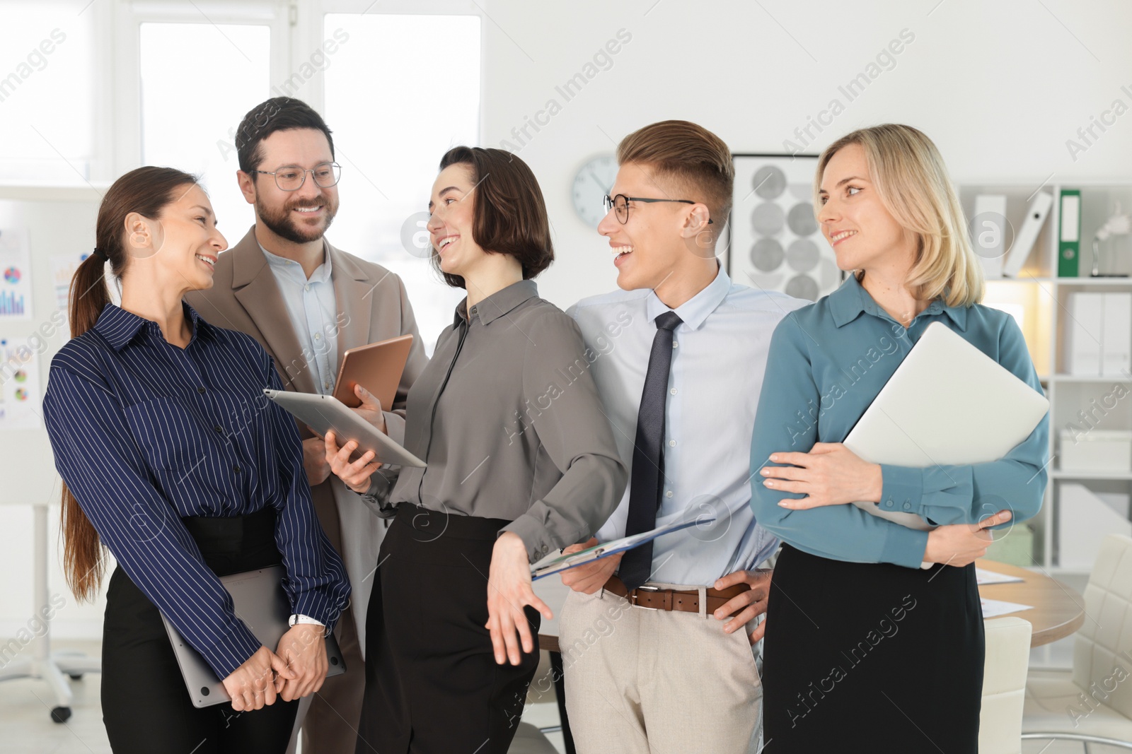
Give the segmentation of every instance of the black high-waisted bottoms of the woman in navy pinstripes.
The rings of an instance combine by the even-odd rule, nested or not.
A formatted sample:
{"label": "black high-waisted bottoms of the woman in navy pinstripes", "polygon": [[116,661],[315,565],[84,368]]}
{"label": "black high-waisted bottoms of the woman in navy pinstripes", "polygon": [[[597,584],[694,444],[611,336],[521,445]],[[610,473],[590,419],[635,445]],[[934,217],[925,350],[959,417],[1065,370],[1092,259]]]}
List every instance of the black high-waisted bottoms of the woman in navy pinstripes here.
{"label": "black high-waisted bottoms of the woman in navy pinstripes", "polygon": [[[182,519],[217,575],[277,565],[275,512]],[[192,707],[153,603],[114,569],[102,639],[102,719],[114,754],[282,754],[299,702],[261,710]],[[269,648],[274,650],[274,647]]]}

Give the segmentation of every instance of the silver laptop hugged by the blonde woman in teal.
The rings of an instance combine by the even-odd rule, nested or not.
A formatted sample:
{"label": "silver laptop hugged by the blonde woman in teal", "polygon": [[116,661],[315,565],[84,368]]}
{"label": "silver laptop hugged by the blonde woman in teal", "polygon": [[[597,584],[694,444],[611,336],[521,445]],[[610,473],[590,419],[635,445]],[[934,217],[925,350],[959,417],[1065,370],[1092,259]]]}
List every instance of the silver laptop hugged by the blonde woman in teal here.
{"label": "silver laptop hugged by the blonde woman in teal", "polygon": [[[872,463],[926,468],[996,461],[1030,436],[1049,410],[1040,392],[933,322],[844,440]],[[928,530],[919,515],[854,503],[890,521]]]}

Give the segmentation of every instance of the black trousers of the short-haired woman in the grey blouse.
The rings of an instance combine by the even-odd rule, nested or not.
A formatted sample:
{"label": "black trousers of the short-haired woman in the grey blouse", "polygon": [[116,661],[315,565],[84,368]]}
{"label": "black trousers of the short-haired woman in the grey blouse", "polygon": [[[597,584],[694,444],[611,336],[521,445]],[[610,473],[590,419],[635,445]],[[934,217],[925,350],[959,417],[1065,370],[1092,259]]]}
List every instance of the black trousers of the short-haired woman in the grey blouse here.
{"label": "black trousers of the short-haired woman in the grey blouse", "polygon": [[[535,651],[497,665],[488,621],[491,549],[508,521],[402,503],[381,543],[366,616],[358,754],[505,754]],[[525,608],[532,635],[539,614]]]}

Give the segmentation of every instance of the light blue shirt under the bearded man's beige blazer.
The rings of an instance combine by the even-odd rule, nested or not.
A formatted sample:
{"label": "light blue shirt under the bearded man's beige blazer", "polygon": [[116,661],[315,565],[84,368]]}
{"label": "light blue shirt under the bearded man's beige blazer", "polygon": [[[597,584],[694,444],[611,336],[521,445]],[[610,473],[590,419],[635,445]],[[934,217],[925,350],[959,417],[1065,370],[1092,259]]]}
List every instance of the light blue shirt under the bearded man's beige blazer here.
{"label": "light blue shirt under the bearded man's beige blazer", "polygon": [[315,378],[315,388],[324,396],[329,396],[334,392],[334,381],[338,376],[337,300],[334,295],[331,254],[324,246],[323,253],[326,255],[323,263],[315,268],[308,279],[299,262],[273,254],[261,244],[259,249],[278,283],[305,361],[315,371],[311,375]]}

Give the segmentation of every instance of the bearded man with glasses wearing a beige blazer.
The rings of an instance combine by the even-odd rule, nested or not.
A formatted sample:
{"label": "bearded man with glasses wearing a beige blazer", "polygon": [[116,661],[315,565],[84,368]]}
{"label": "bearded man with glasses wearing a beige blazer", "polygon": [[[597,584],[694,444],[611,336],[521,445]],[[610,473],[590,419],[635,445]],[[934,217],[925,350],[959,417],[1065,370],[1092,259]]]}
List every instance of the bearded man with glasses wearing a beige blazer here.
{"label": "bearded man with glasses wearing a beige blazer", "polygon": [[[220,254],[213,287],[186,300],[209,322],[259,340],[275,359],[284,387],[301,392],[332,395],[349,348],[414,336],[394,405],[379,406],[359,388],[362,406],[354,409],[402,442],[405,397],[427,358],[401,279],[324,237],[338,209],[341,175],[331,130],[306,103],[274,97],[243,118],[237,149],[237,179],[243,198],[255,206],[256,224]],[[315,511],[345,563],[352,604],[365,606],[385,525],[331,475],[323,440],[301,423],[299,428]],[[310,697],[305,721],[300,708],[297,725],[302,721],[306,752],[354,751],[366,685],[365,619],[365,608],[351,607],[338,621],[335,631],[348,670],[328,678]]]}

